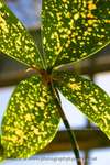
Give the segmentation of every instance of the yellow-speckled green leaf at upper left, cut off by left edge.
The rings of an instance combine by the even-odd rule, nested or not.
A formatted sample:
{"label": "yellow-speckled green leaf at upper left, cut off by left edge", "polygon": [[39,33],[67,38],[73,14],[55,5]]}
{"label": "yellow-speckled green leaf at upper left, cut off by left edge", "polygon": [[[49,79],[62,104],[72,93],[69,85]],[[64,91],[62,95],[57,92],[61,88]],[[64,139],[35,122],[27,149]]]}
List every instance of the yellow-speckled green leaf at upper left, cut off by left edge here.
{"label": "yellow-speckled green leaf at upper left, cut off by left edge", "polygon": [[34,41],[3,0],[0,0],[0,52],[26,65],[41,64]]}

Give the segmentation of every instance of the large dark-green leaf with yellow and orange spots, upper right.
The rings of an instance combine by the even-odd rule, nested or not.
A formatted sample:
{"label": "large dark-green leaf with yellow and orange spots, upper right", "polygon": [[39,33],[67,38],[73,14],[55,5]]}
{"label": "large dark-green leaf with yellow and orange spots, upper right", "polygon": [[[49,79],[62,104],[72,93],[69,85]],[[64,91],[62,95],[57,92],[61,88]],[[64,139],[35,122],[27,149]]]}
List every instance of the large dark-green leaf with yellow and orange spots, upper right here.
{"label": "large dark-green leaf with yellow and orange spots, upper right", "polygon": [[77,62],[110,43],[109,0],[43,0],[42,22],[48,65]]}

